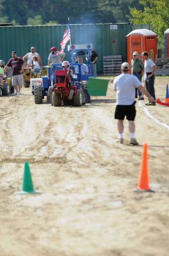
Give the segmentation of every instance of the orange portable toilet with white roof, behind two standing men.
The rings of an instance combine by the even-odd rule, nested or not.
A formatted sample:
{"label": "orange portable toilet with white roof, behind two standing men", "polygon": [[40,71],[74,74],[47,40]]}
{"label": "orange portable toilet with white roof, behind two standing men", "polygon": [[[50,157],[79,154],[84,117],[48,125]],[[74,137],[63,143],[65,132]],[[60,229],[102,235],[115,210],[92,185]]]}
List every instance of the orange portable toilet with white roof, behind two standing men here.
{"label": "orange portable toilet with white roof, behind two standing men", "polygon": [[127,56],[128,63],[131,65],[133,52],[138,52],[138,56],[142,58],[142,52],[147,51],[153,61],[157,56],[157,34],[149,29],[135,29],[131,31],[127,37]]}

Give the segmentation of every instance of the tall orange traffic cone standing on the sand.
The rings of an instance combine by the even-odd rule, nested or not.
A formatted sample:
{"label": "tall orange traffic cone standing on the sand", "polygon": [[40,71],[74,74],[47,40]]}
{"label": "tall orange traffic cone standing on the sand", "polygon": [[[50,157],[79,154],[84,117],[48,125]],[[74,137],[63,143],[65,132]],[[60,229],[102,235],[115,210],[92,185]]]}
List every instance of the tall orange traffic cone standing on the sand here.
{"label": "tall orange traffic cone standing on the sand", "polygon": [[142,163],[140,166],[140,177],[137,184],[137,192],[154,192],[149,187],[149,172],[148,172],[148,153],[147,143],[143,145]]}

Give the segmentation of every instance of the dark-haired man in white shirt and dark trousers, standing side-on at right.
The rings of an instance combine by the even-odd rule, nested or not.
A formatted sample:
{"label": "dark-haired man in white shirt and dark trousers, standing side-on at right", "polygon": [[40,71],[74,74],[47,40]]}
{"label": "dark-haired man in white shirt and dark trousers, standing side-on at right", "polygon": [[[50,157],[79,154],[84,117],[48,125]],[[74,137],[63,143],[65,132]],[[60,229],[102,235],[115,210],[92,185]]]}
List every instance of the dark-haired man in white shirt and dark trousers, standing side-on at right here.
{"label": "dark-haired man in white shirt and dark trousers, standing side-on at right", "polygon": [[[144,81],[146,85],[147,91],[156,99],[155,88],[154,88],[154,80],[155,80],[155,72],[157,70],[156,64],[149,58],[148,52],[142,52],[142,58],[144,60]],[[156,102],[146,103],[147,106],[155,106]]]}

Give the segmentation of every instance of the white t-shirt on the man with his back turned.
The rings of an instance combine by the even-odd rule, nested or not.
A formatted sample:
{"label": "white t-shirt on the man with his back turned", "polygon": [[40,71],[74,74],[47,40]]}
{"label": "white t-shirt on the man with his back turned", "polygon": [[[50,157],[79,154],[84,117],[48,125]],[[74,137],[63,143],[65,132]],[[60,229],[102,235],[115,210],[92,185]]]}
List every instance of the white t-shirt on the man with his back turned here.
{"label": "white t-shirt on the man with his back turned", "polygon": [[131,105],[135,101],[135,88],[142,85],[136,76],[121,74],[115,77],[113,88],[116,93],[116,105]]}

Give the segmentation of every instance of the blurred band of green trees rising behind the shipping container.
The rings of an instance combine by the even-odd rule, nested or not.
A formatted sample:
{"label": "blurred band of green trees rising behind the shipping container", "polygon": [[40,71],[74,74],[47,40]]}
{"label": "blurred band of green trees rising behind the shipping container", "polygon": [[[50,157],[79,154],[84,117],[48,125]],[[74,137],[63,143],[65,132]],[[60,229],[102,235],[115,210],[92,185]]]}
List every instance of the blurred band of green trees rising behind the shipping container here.
{"label": "blurred band of green trees rising behind the shipping container", "polygon": [[13,25],[119,23],[151,24],[163,48],[169,0],[0,0],[0,22]]}

